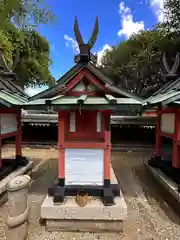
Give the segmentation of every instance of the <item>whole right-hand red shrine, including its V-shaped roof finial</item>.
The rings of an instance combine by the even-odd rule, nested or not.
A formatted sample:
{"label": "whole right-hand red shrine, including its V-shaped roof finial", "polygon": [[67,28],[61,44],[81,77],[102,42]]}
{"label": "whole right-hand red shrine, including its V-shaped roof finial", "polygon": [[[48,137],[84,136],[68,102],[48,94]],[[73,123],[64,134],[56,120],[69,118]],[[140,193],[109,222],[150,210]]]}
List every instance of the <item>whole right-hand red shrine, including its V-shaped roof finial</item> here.
{"label": "whole right-hand red shrine, including its V-shaped roof finial", "polygon": [[179,54],[177,54],[174,65],[170,69],[166,55],[163,55],[168,82],[142,104],[143,108],[154,108],[157,113],[155,156],[150,162],[153,166],[159,166],[162,159],[163,137],[169,138],[173,141],[173,171],[180,169],[180,78],[176,74],[179,61]]}

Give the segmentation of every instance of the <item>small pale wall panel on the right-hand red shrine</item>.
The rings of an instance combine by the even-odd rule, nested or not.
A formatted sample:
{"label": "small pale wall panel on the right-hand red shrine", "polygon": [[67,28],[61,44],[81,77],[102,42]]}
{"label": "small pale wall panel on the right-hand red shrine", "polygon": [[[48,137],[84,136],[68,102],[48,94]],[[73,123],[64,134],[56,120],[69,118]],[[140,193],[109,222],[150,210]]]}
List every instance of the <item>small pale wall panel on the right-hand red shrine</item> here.
{"label": "small pale wall panel on the right-hand red shrine", "polygon": [[174,133],[175,127],[175,114],[174,113],[164,113],[161,116],[161,132],[164,133]]}

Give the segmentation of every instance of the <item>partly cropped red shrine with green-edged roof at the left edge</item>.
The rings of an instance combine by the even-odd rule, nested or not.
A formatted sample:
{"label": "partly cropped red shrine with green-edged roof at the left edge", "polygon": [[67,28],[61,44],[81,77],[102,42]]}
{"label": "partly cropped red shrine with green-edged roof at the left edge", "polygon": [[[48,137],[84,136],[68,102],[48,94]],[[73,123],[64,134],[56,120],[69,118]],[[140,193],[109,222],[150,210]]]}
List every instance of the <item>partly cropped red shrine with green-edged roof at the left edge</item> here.
{"label": "partly cropped red shrine with green-edged roof at the left edge", "polygon": [[[28,101],[27,93],[16,84],[17,77],[7,66],[0,50],[0,179],[21,164],[26,164],[21,148],[21,104]],[[2,159],[2,141],[15,137],[15,160]]]}

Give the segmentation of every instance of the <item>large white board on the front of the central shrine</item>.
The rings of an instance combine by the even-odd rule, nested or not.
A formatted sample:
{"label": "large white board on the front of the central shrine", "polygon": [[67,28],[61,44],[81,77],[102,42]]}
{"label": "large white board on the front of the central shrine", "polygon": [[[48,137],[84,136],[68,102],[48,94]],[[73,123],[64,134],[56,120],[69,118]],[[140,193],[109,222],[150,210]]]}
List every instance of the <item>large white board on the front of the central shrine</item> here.
{"label": "large white board on the front of the central shrine", "polygon": [[104,185],[104,149],[65,149],[66,185]]}

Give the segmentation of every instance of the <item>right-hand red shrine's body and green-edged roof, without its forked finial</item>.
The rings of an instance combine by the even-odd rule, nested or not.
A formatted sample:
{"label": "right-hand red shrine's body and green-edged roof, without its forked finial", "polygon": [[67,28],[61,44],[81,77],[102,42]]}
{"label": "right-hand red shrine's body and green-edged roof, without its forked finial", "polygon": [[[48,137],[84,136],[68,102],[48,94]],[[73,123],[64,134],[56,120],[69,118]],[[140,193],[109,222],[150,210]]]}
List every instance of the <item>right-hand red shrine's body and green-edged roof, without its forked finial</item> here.
{"label": "right-hand red shrine's body and green-edged roof, without its forked finial", "polygon": [[148,100],[156,107],[156,159],[162,158],[162,138],[173,140],[172,166],[180,169],[180,79],[168,85],[167,89]]}

